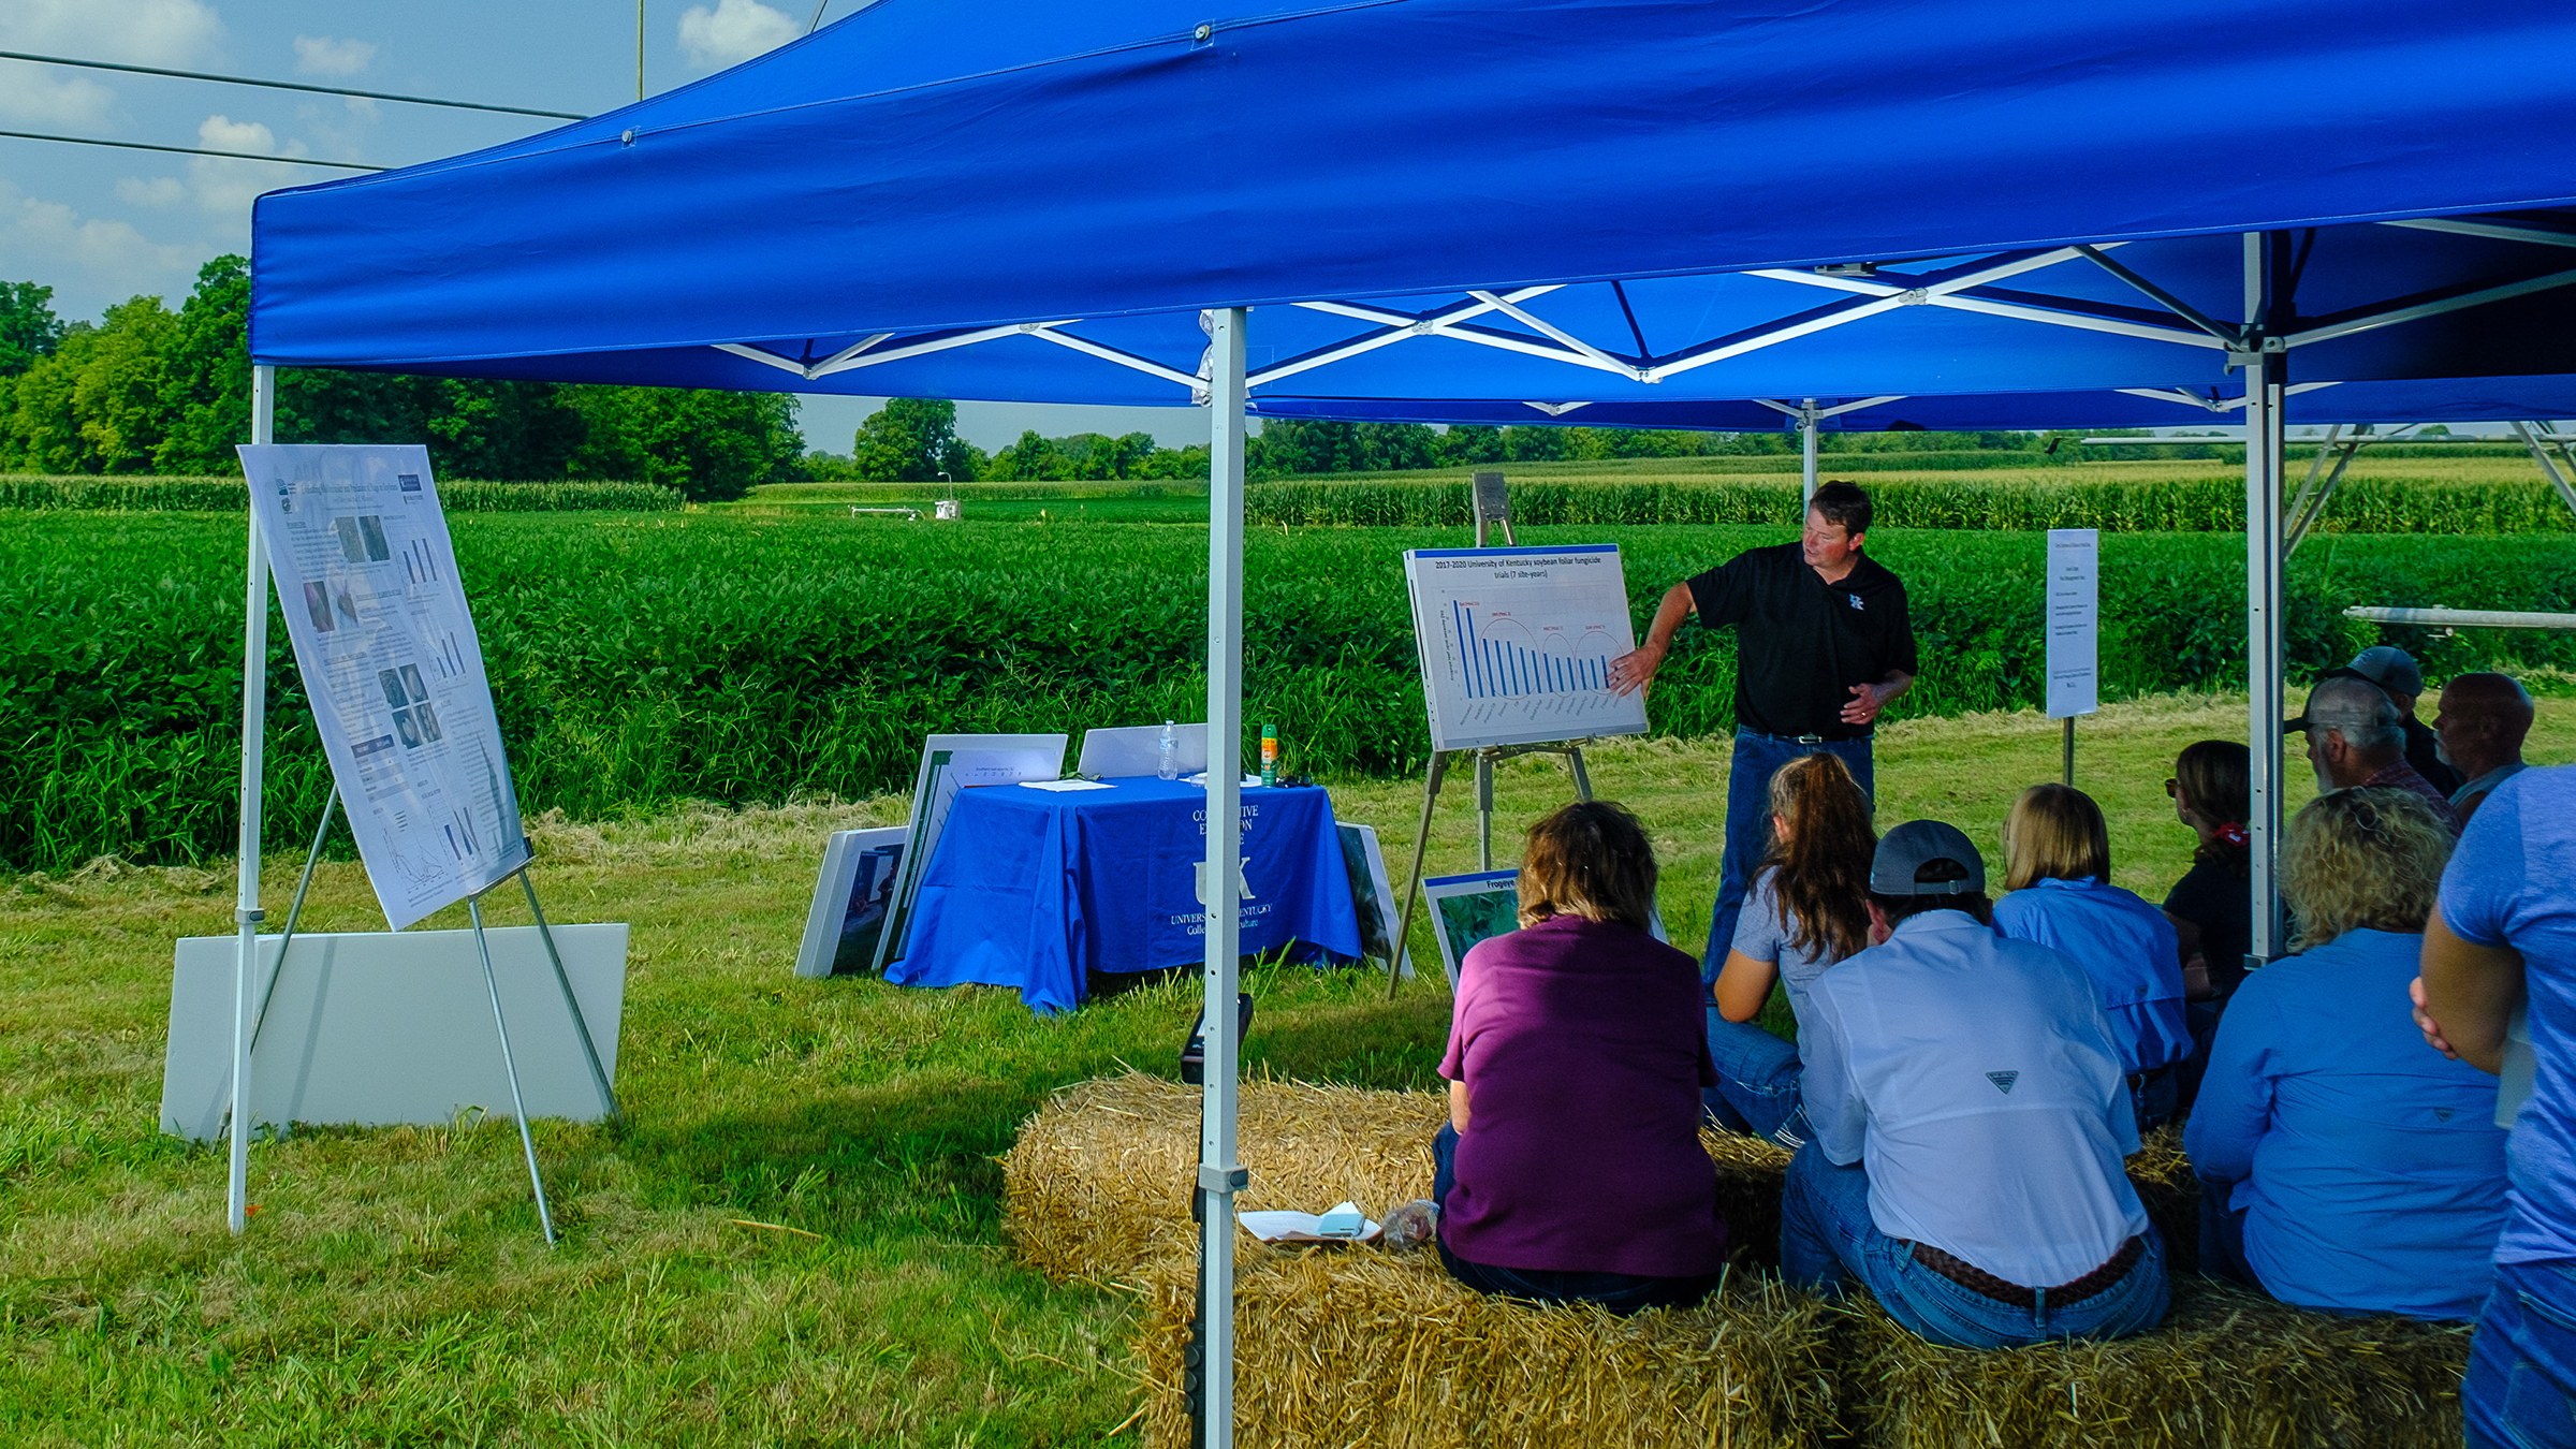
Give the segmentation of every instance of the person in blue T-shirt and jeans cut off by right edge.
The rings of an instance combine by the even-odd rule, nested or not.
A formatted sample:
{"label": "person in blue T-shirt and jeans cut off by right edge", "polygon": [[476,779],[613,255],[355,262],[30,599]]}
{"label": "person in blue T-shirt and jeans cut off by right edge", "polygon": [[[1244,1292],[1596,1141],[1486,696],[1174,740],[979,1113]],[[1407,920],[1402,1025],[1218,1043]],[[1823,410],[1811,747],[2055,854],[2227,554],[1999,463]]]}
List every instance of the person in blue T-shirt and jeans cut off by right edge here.
{"label": "person in blue T-shirt and jeans cut off by right edge", "polygon": [[2504,1067],[2517,1003],[2532,1078],[2504,1142],[2496,1292],[2460,1385],[2473,1446],[2576,1444],[2576,766],[2486,797],[2424,923],[2416,1026],[2434,1047]]}

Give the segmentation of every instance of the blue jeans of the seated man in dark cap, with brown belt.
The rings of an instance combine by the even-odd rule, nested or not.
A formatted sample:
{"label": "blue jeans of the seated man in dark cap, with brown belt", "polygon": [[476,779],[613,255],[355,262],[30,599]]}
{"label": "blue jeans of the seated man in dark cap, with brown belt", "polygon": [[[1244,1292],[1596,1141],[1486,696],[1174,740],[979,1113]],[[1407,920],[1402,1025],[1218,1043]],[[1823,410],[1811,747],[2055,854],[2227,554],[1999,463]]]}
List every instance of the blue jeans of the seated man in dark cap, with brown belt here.
{"label": "blue jeans of the seated man in dark cap, with brown belt", "polygon": [[2014,1307],[1955,1284],[1914,1261],[1914,1245],[1870,1220],[1870,1173],[1837,1168],[1808,1142],[1790,1158],[1780,1194],[1780,1276],[1790,1287],[1870,1289],[1888,1318],[1945,1348],[2022,1348],[2056,1338],[2120,1338],[2164,1320],[2164,1240],[2146,1230],[2146,1253],[2107,1289],[2056,1307]]}

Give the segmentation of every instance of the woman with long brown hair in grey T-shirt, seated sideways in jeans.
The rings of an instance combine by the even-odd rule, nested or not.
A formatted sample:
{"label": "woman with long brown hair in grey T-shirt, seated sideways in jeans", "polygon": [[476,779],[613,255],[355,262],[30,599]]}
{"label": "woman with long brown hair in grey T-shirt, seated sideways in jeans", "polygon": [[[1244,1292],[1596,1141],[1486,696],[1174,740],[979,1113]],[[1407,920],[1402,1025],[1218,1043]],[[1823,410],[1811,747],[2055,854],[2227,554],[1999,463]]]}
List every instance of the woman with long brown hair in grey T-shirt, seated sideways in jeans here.
{"label": "woman with long brown hair in grey T-shirt, seated sideways in jeans", "polygon": [[1754,1024],[1772,982],[1806,1021],[1806,987],[1870,944],[1870,797],[1834,755],[1798,755],[1770,779],[1772,843],[1736,915],[1736,938],[1710,985],[1708,1055],[1718,1085],[1708,1114],[1728,1129],[1806,1142],[1801,1052]]}

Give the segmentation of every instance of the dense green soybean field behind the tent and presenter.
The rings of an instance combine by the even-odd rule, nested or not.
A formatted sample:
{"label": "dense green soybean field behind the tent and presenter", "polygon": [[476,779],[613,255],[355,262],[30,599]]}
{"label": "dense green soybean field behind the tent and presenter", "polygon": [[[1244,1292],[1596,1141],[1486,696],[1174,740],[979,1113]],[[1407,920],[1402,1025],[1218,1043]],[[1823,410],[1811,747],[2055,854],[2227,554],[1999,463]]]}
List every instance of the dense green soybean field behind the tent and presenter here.
{"label": "dense green soybean field behind the tent and presenter", "polygon": [[[1069,513],[1069,511],[1066,511]],[[616,817],[680,799],[860,797],[909,781],[933,730],[1195,719],[1206,531],[1046,513],[909,523],[809,511],[461,513],[459,562],[531,812]],[[1618,541],[1643,621],[1674,580],[1785,526],[1538,526]],[[1288,766],[1391,776],[1427,735],[1399,554],[1455,529],[1255,529],[1247,722]],[[1878,529],[1911,593],[1924,676],[1896,714],[2040,701],[2043,536]],[[2105,696],[2241,688],[2233,534],[2102,547]],[[242,521],[209,513],[0,513],[0,866],[93,856],[193,864],[234,835]],[[2380,642],[2429,676],[2509,660],[2576,668],[2563,634],[2429,634],[2347,603],[2576,608],[2576,536],[2321,536],[2290,567],[2298,670]],[[1734,642],[1685,629],[1651,701],[1659,732],[1728,730]],[[270,848],[296,848],[330,786],[281,621],[268,655]]]}

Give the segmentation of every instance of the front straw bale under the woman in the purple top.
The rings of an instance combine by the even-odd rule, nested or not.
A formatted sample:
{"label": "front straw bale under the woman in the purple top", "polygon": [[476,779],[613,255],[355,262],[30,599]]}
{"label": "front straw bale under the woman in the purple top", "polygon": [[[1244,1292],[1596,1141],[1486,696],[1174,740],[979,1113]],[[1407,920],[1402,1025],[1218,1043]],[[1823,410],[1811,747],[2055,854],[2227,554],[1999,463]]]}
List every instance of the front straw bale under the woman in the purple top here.
{"label": "front straw bale under the woman in the purple top", "polygon": [[[1193,1263],[1144,1271],[1144,1444],[1190,1441]],[[1244,1449],[1808,1449],[1834,1428],[1832,1312],[1759,1274],[1690,1310],[1613,1318],[1476,1294],[1432,1253],[1244,1245]]]}

